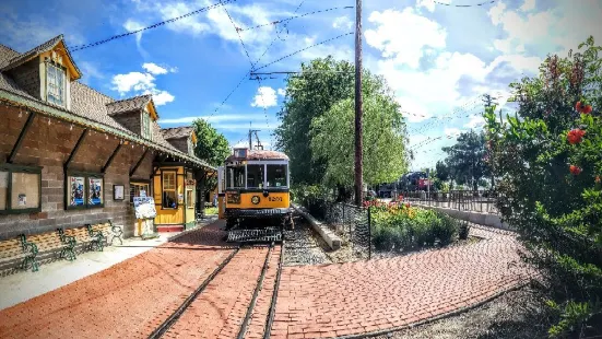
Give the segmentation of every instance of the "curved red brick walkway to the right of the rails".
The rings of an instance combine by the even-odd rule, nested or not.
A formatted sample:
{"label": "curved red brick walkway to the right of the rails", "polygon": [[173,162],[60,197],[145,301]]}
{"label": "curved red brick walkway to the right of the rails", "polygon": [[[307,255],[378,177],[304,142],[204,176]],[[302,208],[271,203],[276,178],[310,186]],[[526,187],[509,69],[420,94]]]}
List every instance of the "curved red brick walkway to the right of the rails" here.
{"label": "curved red brick walkway to the right of the rails", "polygon": [[286,267],[272,338],[375,332],[486,301],[529,273],[507,232],[474,230],[487,239],[404,257]]}

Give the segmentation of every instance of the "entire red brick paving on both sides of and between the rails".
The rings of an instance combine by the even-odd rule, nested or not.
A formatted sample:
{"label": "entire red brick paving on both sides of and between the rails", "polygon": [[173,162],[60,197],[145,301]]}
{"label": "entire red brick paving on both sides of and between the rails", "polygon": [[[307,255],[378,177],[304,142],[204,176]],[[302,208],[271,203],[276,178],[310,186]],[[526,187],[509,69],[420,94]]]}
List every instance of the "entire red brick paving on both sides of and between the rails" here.
{"label": "entire red brick paving on both sides of and between the rails", "polygon": [[[0,311],[0,338],[145,338],[235,249],[214,224],[107,270]],[[272,338],[319,338],[390,329],[473,305],[516,287],[509,266],[519,245],[505,232],[487,239],[404,257],[285,267]],[[243,248],[165,334],[235,338],[268,255]],[[261,338],[272,301],[280,246],[268,258],[246,338]]]}

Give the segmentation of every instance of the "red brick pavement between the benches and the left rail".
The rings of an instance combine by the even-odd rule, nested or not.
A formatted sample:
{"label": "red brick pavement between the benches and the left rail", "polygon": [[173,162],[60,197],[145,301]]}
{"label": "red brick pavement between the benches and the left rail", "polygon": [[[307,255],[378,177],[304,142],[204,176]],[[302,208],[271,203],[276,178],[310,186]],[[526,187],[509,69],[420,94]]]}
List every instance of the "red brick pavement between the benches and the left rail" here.
{"label": "red brick pavement between the benches and the left rail", "polygon": [[0,338],[145,338],[232,253],[216,224],[0,312]]}

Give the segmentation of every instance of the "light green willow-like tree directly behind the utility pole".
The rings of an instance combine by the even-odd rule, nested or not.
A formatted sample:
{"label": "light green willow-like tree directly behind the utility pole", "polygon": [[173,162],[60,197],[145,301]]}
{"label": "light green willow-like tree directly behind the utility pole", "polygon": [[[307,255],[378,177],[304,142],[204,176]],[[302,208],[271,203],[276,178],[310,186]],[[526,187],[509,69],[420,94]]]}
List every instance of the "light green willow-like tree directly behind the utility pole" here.
{"label": "light green willow-like tree directly behind the utility pole", "polygon": [[[392,183],[406,170],[405,124],[383,80],[367,75],[380,90],[367,90],[364,96],[364,182]],[[311,122],[311,154],[324,163],[323,182],[329,186],[353,186],[354,116],[354,101],[347,98]]]}

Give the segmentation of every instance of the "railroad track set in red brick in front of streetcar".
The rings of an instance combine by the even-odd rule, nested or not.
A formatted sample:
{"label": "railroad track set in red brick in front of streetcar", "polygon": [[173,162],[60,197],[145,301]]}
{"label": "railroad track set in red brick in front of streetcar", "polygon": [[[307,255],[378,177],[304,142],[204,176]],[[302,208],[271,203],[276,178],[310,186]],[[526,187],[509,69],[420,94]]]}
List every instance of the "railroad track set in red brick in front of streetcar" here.
{"label": "railroad track set in red brick in front of streetcar", "polygon": [[[249,267],[247,272],[237,273],[240,270],[245,270],[246,267],[241,267],[246,261],[248,261],[249,253],[252,254],[253,250],[262,250],[263,248],[267,249],[265,256],[262,258],[262,265],[260,273],[257,276],[256,280],[247,279],[246,281],[239,281],[240,277],[238,274],[249,274],[252,276],[252,267]],[[275,254],[274,250],[280,249],[280,254]],[[193,323],[190,322],[190,319],[199,319],[200,315],[198,312],[199,309],[202,309],[203,305],[203,296],[212,301],[212,306],[215,308],[216,306],[213,305],[213,302],[215,302],[215,297],[212,299],[210,294],[211,291],[208,289],[211,287],[211,290],[215,285],[220,285],[220,282],[226,281],[228,284],[233,284],[233,279],[238,279],[238,281],[235,281],[235,283],[238,283],[236,285],[239,295],[238,299],[243,299],[243,302],[248,299],[248,306],[246,307],[246,312],[244,314],[236,314],[236,309],[232,311],[228,315],[228,318],[225,319],[226,325],[224,327],[235,324],[237,335],[232,336],[233,338],[236,337],[237,339],[244,339],[248,332],[252,330],[257,334],[258,330],[263,331],[263,338],[268,339],[270,338],[270,331],[274,319],[274,313],[275,313],[275,304],[278,300],[278,289],[280,285],[280,276],[282,270],[282,256],[284,253],[284,241],[282,242],[282,245],[276,245],[273,242],[269,245],[263,246],[253,246],[253,245],[239,245],[236,247],[214,270],[213,272],[194,291],[188,295],[181,305],[173,313],[170,314],[160,326],[155,328],[155,330],[149,336],[149,339],[158,339],[164,337],[166,334],[169,334],[174,331],[175,334],[178,334],[182,330],[187,329],[193,329],[194,331],[203,331],[206,329],[215,330],[215,328],[200,328],[200,323]],[[256,256],[252,258],[253,260],[258,260],[258,257]],[[276,266],[274,267],[272,261],[276,261]],[[253,262],[250,262],[250,265],[253,265]],[[224,270],[224,268],[231,268],[229,272],[228,270]],[[253,266],[256,267],[256,266]],[[275,271],[274,271],[275,270]],[[270,272],[268,274],[268,272]],[[233,276],[233,277],[226,277],[226,276]],[[269,277],[269,279],[267,279]],[[255,277],[253,277],[255,278]],[[229,280],[228,280],[229,279]],[[252,294],[245,293],[245,291],[248,291],[251,282],[255,281],[255,287],[252,288]],[[225,294],[227,294],[228,291],[225,291]],[[263,303],[262,305],[258,305],[258,299],[261,293],[270,293],[271,295],[269,299],[262,299],[263,301],[269,300],[269,305]],[[250,294],[250,295],[249,295]],[[240,300],[236,300],[236,303],[240,302]],[[260,306],[261,309],[258,311],[258,306]],[[267,312],[264,312],[267,311]],[[239,325],[238,325],[239,324]],[[194,327],[196,328],[190,328]],[[229,326],[228,332],[232,335],[232,326]]]}

